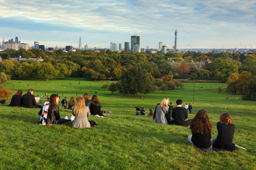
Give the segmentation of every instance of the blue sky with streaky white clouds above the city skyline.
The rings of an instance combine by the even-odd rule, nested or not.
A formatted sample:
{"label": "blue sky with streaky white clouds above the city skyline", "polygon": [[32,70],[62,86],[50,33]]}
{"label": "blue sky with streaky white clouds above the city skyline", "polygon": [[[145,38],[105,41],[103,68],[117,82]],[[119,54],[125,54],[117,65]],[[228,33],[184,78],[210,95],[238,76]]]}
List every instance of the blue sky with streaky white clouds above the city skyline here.
{"label": "blue sky with streaky white clouds above the city skyline", "polygon": [[[0,0],[0,40],[46,47],[256,48],[256,0]],[[2,41],[2,40],[1,40]]]}

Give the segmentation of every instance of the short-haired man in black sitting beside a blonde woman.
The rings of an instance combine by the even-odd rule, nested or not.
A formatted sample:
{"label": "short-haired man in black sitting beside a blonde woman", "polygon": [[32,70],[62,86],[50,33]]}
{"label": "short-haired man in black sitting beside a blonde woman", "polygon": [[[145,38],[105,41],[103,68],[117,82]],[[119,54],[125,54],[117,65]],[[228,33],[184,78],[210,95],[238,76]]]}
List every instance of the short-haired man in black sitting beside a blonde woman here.
{"label": "short-haired man in black sitting beside a blonde woman", "polygon": [[[172,110],[171,118],[174,118],[175,125],[188,126],[191,123],[190,120],[186,120],[188,118],[188,111],[186,108],[182,108],[182,100],[178,99],[176,101],[177,107]],[[186,121],[185,121],[186,120]]]}

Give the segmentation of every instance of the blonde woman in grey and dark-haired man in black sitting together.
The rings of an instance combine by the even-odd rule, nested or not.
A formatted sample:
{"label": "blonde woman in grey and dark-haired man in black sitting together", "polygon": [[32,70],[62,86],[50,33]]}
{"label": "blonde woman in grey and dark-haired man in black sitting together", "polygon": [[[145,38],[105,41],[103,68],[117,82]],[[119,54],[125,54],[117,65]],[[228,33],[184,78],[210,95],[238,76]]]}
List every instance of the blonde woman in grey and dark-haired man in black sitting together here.
{"label": "blonde woman in grey and dark-haired man in black sitting together", "polygon": [[186,120],[188,118],[188,111],[186,108],[182,108],[182,100],[178,99],[176,101],[177,107],[172,110],[172,107],[170,108],[168,105],[169,101],[169,98],[164,98],[160,104],[157,104],[153,115],[154,122],[182,126],[190,125],[191,120]]}

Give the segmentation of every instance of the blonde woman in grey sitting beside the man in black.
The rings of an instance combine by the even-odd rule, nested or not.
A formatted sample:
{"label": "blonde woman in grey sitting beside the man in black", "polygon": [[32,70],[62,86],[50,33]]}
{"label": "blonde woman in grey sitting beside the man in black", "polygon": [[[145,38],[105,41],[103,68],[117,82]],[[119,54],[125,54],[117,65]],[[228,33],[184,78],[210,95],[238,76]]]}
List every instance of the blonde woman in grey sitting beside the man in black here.
{"label": "blonde woman in grey sitting beside the man in black", "polygon": [[168,121],[166,119],[166,114],[169,111],[169,98],[164,98],[159,105],[156,106],[155,109],[155,117],[154,122],[161,123],[161,124],[168,124]]}

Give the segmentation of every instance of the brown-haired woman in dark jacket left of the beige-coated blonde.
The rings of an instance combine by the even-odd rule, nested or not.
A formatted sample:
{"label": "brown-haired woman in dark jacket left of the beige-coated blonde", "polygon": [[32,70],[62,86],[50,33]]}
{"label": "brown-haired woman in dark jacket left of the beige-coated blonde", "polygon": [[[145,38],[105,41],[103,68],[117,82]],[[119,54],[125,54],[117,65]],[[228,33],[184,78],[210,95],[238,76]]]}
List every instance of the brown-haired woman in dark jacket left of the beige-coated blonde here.
{"label": "brown-haired woman in dark jacket left of the beige-coated blonde", "polygon": [[60,98],[57,94],[50,95],[50,102],[49,102],[48,114],[46,119],[47,125],[61,124],[64,122],[71,121],[70,119],[68,119],[68,116],[65,116],[65,118],[60,118],[59,106],[58,106],[59,100]]}

